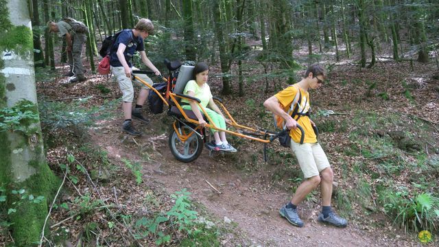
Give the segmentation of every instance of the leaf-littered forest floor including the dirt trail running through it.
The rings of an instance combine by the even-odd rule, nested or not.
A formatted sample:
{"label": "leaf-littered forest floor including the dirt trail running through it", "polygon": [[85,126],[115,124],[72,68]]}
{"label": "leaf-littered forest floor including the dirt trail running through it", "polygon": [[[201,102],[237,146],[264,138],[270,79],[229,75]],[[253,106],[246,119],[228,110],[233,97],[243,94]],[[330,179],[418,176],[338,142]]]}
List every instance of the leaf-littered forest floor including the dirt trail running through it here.
{"label": "leaf-littered forest floor including the dirt trail running through it", "polygon": [[[377,207],[375,189],[370,191],[368,200],[372,209],[370,205],[360,203],[361,194],[355,192],[351,199],[358,199],[358,202],[350,201],[347,213],[342,211],[343,202],[333,200],[335,211],[348,218],[346,228],[317,222],[321,210],[319,191],[300,204],[299,214],[305,227],[292,226],[278,213],[278,209],[290,200],[301,179],[300,168],[287,150],[276,143],[268,145],[269,161],[264,163],[261,143],[230,137],[237,153],[209,156],[204,149],[197,160],[181,163],[171,154],[167,144],[171,120],[166,113],[152,115],[145,104],[150,124],[134,120],[135,127],[143,135],[131,137],[121,131],[123,117],[116,82],[112,79],[107,82],[105,76],[87,73],[86,82],[63,84],[66,78],[61,74],[67,69],[57,69],[55,73],[42,70],[37,76],[39,104],[44,104],[49,110],[54,106],[60,108],[58,112],[47,110],[41,113],[46,119],[43,129],[47,137],[47,158],[51,168],[62,177],[62,169],[57,164],[69,163],[66,156],[73,154],[72,167],[77,167],[78,171],[71,168],[72,174],[64,186],[68,189],[58,198],[59,207],[51,217],[53,239],[64,236],[68,239],[66,245],[75,246],[81,243],[86,246],[128,246],[134,243],[149,246],[158,235],[149,234],[136,239],[134,236],[140,231],[134,233],[135,220],[169,211],[176,201],[169,195],[186,188],[191,193],[195,211],[200,214],[199,219],[205,218],[206,222],[215,224],[215,236],[220,246],[426,245],[419,242],[417,233],[405,233],[392,224],[393,219]],[[422,151],[434,156],[438,152],[439,80],[432,79],[435,71],[438,69],[434,63],[414,62],[411,68],[408,62],[378,62],[372,69],[361,70],[353,64],[333,64],[324,86],[311,92],[313,113],[324,110],[335,113],[320,114],[316,120],[324,123],[320,125],[320,143],[331,161],[340,194],[347,195],[350,189],[357,191],[355,189],[361,181],[370,185],[380,182],[368,172],[355,173],[358,163],[365,160],[364,155],[347,154],[346,150],[355,150],[348,134],[358,126],[364,127],[362,130],[366,135],[376,134],[377,128],[372,128],[375,122],[384,118],[393,123],[392,117],[401,115],[403,117],[399,119],[405,119],[405,122],[393,126],[394,130],[412,131],[422,119],[420,121],[427,126],[428,134],[425,137],[415,132],[413,139],[419,141],[415,144],[420,146],[417,154]],[[217,67],[211,68],[209,84],[214,95],[219,95],[222,86],[218,73]],[[265,93],[265,81],[247,81],[244,97],[228,95],[223,99],[238,122],[270,128],[271,116],[261,104],[285,86],[287,84],[280,80],[276,83],[270,81],[268,93]],[[233,84],[233,90],[237,91],[237,84]],[[407,97],[406,91],[410,92],[411,98]],[[388,98],[385,99],[383,93]],[[95,108],[93,113],[87,113],[91,115],[93,125],[84,125],[86,128],[80,130],[81,121],[78,120],[79,124],[69,121],[69,116],[84,118],[84,113],[72,110],[73,105],[88,110]],[[51,114],[54,116],[47,116]],[[62,126],[62,121],[69,124]],[[390,131],[387,127],[383,124],[378,128]],[[355,146],[361,146],[361,143],[355,143]],[[407,162],[416,157],[416,154],[404,151],[393,154],[403,156]],[[381,171],[375,172],[380,174]],[[410,190],[409,175],[412,174],[403,169],[399,176],[394,177],[394,183]],[[99,200],[100,204],[93,204],[93,200]],[[182,233],[172,231],[169,226],[160,225],[158,228],[164,233],[174,232],[167,244],[182,244],[185,237]],[[438,244],[437,233],[433,232],[433,242],[427,246]],[[195,243],[197,240],[193,238],[191,241]]]}

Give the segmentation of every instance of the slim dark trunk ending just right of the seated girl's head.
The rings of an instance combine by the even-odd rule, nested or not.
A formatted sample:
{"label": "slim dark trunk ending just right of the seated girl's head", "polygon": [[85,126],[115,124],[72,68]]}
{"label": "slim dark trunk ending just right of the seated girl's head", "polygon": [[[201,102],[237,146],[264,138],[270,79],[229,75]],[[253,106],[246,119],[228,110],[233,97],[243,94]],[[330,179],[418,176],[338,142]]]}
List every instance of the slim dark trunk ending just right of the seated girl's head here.
{"label": "slim dark trunk ending just right of the seated girl's head", "polygon": [[221,19],[221,9],[219,8],[219,1],[213,1],[213,23],[215,25],[215,36],[219,47],[219,60],[221,60],[222,72],[222,94],[230,94],[230,67],[228,66],[229,55],[226,50],[224,40],[223,23]]}

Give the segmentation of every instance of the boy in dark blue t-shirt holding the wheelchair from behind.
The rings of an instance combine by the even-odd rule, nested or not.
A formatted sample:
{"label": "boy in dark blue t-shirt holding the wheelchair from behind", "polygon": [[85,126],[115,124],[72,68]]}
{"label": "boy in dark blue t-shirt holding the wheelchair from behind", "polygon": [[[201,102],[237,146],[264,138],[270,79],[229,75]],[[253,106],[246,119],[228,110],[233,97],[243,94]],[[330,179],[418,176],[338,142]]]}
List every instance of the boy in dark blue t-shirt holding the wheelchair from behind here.
{"label": "boy in dark blue t-shirt holding the wheelchair from behind", "polygon": [[[135,130],[132,126],[131,117],[138,119],[144,123],[148,120],[142,115],[142,106],[147,99],[149,89],[142,86],[142,89],[137,97],[136,106],[132,109],[132,101],[134,99],[134,88],[131,81],[131,72],[137,70],[133,67],[130,60],[136,51],[140,52],[143,64],[150,68],[156,75],[161,75],[160,71],[147,58],[145,53],[145,45],[143,40],[149,34],[154,32],[154,25],[150,19],[140,19],[132,30],[123,30],[115,40],[110,52],[111,71],[116,76],[119,82],[119,88],[122,91],[122,108],[125,121],[123,121],[122,130],[132,135],[141,135],[142,133]],[[152,80],[147,75],[137,74],[139,78],[148,84],[152,84]]]}

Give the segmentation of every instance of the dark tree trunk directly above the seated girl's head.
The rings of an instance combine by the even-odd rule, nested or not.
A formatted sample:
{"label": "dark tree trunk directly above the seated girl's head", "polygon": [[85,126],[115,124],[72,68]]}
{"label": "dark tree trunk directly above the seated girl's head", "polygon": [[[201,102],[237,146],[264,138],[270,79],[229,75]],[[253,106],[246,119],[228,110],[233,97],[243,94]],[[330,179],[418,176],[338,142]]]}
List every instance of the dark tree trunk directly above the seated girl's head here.
{"label": "dark tree trunk directly above the seated girl's head", "polygon": [[193,42],[192,1],[182,0],[183,21],[185,23],[185,54],[187,60],[195,61]]}

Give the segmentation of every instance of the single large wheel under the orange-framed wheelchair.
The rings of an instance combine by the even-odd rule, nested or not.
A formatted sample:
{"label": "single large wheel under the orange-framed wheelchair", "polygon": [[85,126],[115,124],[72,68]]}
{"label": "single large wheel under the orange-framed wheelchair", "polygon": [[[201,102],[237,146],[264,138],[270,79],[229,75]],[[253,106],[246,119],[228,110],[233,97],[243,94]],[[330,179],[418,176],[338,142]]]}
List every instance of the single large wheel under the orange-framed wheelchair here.
{"label": "single large wheel under the orange-framed wheelchair", "polygon": [[203,150],[203,140],[187,126],[181,125],[177,130],[181,139],[178,137],[174,126],[169,132],[168,144],[171,153],[178,161],[185,163],[195,161]]}

